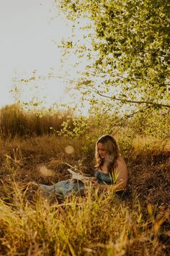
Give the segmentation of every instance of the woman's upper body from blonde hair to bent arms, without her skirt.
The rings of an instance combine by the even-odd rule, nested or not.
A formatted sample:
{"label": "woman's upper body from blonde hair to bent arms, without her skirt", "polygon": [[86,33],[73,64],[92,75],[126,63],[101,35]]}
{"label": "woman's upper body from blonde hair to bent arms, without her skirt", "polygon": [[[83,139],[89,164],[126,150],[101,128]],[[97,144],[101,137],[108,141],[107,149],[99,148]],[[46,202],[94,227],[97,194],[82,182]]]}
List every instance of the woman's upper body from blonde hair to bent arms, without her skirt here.
{"label": "woman's upper body from blonde hair to bent arms, without her skirt", "polygon": [[117,142],[110,135],[103,135],[96,143],[95,158],[97,171],[92,179],[93,186],[99,189],[119,191],[126,189],[128,170],[120,155]]}

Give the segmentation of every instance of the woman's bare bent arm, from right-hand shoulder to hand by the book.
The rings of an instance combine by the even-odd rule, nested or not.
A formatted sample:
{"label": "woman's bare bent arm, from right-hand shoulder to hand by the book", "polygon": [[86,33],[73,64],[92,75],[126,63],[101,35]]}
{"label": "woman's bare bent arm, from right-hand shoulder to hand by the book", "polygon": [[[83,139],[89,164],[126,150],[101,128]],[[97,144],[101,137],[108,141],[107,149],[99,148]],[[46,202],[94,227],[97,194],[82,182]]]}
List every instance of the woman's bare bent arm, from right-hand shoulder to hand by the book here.
{"label": "woman's bare bent arm, from right-hand shoulder to hand by the book", "polygon": [[94,182],[94,187],[99,189],[112,189],[113,191],[126,189],[128,182],[128,170],[125,161],[122,157],[117,159],[117,168],[115,169],[115,184],[113,185],[101,185],[98,182]]}

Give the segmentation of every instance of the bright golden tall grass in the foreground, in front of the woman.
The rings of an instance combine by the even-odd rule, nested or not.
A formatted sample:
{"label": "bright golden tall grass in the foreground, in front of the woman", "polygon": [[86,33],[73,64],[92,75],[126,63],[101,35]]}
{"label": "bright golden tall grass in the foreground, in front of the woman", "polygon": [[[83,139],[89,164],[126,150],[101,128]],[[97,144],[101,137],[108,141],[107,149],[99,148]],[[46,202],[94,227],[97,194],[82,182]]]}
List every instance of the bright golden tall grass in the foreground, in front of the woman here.
{"label": "bright golden tall grass in the foreground, in front of the woman", "polygon": [[166,255],[159,236],[169,218],[148,207],[144,218],[112,194],[71,197],[63,203],[25,200],[14,184],[14,204],[0,201],[1,255]]}

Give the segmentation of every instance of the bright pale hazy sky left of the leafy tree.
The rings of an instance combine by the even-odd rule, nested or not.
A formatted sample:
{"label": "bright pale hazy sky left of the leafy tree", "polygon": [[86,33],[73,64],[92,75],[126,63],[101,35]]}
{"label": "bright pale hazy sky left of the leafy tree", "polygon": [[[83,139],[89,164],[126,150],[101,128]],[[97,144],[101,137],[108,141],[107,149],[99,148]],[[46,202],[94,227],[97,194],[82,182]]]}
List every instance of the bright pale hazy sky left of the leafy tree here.
{"label": "bright pale hazy sky left of the leafy tree", "polygon": [[[71,35],[71,27],[59,17],[53,0],[0,0],[0,31],[0,108],[14,103],[9,93],[14,85],[21,88],[23,101],[35,94],[45,106],[70,101],[66,85],[56,76],[62,73],[58,44]],[[39,77],[36,81],[19,82],[32,72]],[[45,78],[49,72],[53,78]]]}

